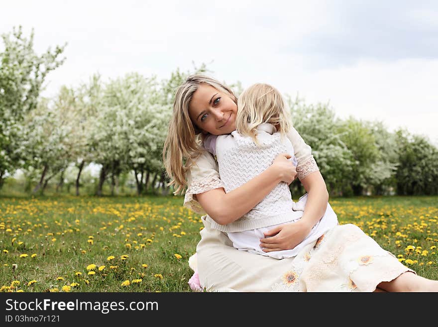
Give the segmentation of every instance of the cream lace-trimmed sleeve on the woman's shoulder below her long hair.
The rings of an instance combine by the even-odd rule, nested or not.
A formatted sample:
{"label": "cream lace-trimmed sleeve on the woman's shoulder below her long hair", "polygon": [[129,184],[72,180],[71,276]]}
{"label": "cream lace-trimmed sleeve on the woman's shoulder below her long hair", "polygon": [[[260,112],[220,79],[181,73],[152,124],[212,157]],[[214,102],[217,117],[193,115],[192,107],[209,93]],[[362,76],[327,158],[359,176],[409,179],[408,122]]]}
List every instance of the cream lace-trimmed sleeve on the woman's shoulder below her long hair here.
{"label": "cream lace-trimmed sleeve on the woman's shoulder below her long hair", "polygon": [[213,156],[209,152],[203,151],[187,173],[184,207],[198,214],[207,215],[196,199],[196,195],[223,187],[218,170],[218,165]]}

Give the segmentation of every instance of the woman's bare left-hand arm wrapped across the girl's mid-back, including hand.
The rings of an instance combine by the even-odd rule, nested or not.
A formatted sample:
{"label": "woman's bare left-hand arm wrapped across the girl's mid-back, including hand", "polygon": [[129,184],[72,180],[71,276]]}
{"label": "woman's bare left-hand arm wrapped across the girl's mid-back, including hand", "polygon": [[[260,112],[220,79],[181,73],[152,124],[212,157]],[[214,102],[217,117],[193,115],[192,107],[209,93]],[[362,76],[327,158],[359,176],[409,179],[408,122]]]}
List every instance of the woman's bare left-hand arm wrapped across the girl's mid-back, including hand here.
{"label": "woman's bare left-hand arm wrapped across the girl's mid-back, including hand", "polygon": [[292,183],[296,168],[287,160],[290,157],[286,153],[279,154],[263,173],[231,192],[217,188],[199,193],[196,195],[198,202],[217,223],[233,222],[253,209],[278,183]]}

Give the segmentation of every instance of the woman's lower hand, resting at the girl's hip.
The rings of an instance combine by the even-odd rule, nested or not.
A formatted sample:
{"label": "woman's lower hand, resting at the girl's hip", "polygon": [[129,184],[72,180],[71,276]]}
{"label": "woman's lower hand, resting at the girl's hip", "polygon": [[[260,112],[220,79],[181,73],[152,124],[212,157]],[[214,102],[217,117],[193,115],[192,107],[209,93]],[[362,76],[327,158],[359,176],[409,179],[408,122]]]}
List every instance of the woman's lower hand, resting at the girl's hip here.
{"label": "woman's lower hand, resting at the girl's hip", "polygon": [[263,252],[291,250],[309,235],[312,227],[303,219],[275,227],[260,238],[260,247]]}

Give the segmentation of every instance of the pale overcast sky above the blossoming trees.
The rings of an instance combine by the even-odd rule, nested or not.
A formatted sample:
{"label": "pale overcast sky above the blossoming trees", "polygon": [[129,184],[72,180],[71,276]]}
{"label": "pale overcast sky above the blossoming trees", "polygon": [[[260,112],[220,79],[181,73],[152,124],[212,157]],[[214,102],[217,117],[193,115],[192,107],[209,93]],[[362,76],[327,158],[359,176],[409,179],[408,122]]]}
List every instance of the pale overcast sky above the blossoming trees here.
{"label": "pale overcast sky above the blossoming trees", "polygon": [[[168,78],[207,63],[243,87],[266,82],[339,117],[381,120],[438,144],[437,1],[1,0],[0,33],[67,42],[44,96],[95,72]],[[1,47],[1,46],[0,46]]]}

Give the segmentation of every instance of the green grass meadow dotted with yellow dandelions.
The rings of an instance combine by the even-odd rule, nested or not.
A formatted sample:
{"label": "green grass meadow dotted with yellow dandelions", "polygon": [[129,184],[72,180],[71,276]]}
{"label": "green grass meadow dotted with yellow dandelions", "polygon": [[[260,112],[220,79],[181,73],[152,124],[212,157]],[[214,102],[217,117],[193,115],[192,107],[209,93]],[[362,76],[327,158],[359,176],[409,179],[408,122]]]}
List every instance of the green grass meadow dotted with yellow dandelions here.
{"label": "green grass meadow dotted with yellow dandelions", "polygon": [[[191,292],[203,228],[182,197],[1,197],[2,292]],[[438,197],[332,198],[420,276],[438,279]]]}

